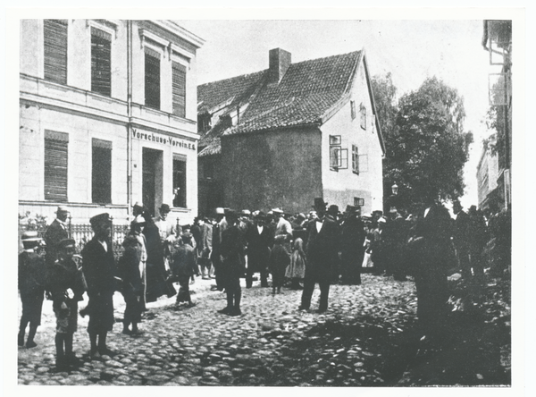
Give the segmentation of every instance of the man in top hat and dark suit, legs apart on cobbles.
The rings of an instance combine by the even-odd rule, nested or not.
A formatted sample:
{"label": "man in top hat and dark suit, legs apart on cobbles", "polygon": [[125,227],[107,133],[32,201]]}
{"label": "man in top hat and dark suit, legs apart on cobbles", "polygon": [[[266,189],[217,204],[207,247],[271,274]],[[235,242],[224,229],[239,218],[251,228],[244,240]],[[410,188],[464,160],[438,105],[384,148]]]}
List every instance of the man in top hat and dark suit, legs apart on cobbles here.
{"label": "man in top hat and dark suit, legs apart on cobbles", "polygon": [[325,216],[326,205],[323,199],[314,199],[317,218],[307,227],[307,266],[300,310],[308,310],[311,306],[315,283],[320,286],[318,311],[322,313],[328,309],[330,282],[333,266],[338,255],[339,225],[328,216]]}

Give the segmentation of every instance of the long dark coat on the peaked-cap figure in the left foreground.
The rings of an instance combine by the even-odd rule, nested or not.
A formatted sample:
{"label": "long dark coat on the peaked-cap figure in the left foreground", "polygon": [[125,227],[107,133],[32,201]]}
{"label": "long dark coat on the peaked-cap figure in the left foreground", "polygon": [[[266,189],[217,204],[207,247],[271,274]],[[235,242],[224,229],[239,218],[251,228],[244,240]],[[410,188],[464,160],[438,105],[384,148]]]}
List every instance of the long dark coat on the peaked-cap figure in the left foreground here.
{"label": "long dark coat on the peaked-cap figure in the left foreground", "polygon": [[94,237],[82,249],[82,271],[88,283],[88,333],[101,334],[113,328],[113,292],[116,275],[113,245],[107,242],[107,250]]}

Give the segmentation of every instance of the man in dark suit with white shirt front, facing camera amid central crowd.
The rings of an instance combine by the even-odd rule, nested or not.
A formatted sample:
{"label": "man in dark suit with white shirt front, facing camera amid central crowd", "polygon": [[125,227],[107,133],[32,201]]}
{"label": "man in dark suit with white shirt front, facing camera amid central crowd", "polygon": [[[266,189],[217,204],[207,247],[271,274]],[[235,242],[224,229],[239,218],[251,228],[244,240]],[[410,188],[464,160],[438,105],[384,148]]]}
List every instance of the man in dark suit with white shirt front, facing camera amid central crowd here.
{"label": "man in dark suit with white shirt front, facing camera amid central crowd", "polygon": [[261,274],[261,287],[268,286],[268,258],[273,245],[273,235],[272,230],[264,224],[265,218],[264,212],[259,212],[255,215],[255,224],[247,228],[246,288],[251,288],[255,272]]}

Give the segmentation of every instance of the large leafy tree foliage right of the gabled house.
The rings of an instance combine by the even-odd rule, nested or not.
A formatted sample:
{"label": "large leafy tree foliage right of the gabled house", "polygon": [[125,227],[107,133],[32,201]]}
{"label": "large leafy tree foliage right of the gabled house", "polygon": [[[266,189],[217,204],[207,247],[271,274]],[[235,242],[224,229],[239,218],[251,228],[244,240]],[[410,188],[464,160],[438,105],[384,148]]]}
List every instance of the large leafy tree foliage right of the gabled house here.
{"label": "large leafy tree foliage right of the gabled house", "polygon": [[406,207],[462,196],[473,134],[464,131],[464,102],[456,89],[432,77],[395,105],[387,74],[373,79],[373,90],[386,145],[384,191],[397,182]]}

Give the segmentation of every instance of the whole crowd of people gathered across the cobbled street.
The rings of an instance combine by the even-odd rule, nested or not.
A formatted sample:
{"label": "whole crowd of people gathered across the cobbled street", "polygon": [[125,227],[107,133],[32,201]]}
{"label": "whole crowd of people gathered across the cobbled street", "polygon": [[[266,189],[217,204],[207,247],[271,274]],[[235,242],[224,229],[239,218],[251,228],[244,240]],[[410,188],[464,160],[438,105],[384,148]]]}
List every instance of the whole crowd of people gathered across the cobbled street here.
{"label": "whole crowd of people gathered across the cobbled street", "polygon": [[[168,205],[163,204],[154,218],[136,203],[116,263],[108,214],[90,219],[94,237],[78,256],[65,225],[69,210],[58,207],[44,241],[37,232],[22,235],[18,343],[24,345],[29,325],[26,346],[36,346],[44,296],[53,301],[56,367],[63,370],[78,363],[72,335],[84,293],[88,304],[80,316],[89,317],[89,355],[96,358],[114,355],[107,348],[106,337],[114,323],[115,291],[121,292],[126,304],[122,333],[131,335],[140,333],[138,324],[147,302],[177,295],[177,304],[194,306],[189,286],[196,276],[214,279],[212,289],[225,291],[227,298],[219,313],[234,317],[242,314],[241,278],[245,278],[246,288],[252,288],[258,274],[264,288],[269,287],[272,275],[273,294],[281,293],[285,286],[303,290],[300,310],[310,308],[318,284],[318,311],[323,312],[328,308],[330,285],[359,285],[365,268],[398,281],[411,275],[423,333],[434,334],[445,319],[447,275],[459,269],[465,278],[482,278],[488,225],[493,225],[474,206],[465,213],[455,202],[453,209],[455,219],[440,203],[430,200],[423,211],[411,215],[396,208],[387,216],[381,211],[362,215],[359,206],[348,205],[341,213],[339,207],[314,199],[307,215],[285,214],[281,208],[266,213],[215,208],[212,216],[198,216],[193,224],[178,226],[168,218]],[[173,283],[179,283],[178,292]]]}

